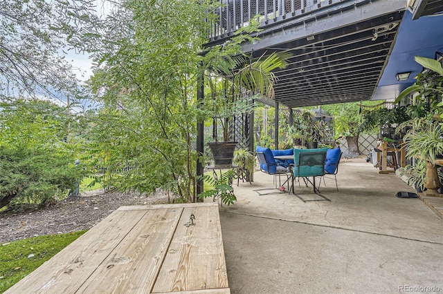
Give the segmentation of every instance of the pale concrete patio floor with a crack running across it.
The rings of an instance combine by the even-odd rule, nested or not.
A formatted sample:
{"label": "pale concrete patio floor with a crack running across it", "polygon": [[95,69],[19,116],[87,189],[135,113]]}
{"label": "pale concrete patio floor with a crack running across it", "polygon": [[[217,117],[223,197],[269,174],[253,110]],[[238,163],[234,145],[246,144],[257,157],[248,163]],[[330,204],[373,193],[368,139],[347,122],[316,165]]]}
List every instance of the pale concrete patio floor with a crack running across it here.
{"label": "pale concrete patio floor with a crack running across it", "polygon": [[[258,195],[273,176],[234,183],[220,207],[231,293],[443,293],[443,220],[397,175],[364,158],[342,159],[321,193]],[[310,188],[296,193],[308,198]]]}

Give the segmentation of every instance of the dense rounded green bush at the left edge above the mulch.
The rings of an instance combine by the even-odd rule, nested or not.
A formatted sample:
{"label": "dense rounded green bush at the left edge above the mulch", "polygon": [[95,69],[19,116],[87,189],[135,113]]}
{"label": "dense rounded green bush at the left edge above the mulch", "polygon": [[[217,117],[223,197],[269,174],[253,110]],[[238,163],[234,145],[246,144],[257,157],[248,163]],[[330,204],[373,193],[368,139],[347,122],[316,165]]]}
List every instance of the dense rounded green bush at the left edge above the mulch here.
{"label": "dense rounded green bush at the left edge above the mulch", "polygon": [[69,117],[48,101],[0,104],[0,207],[65,197],[85,173],[66,149]]}

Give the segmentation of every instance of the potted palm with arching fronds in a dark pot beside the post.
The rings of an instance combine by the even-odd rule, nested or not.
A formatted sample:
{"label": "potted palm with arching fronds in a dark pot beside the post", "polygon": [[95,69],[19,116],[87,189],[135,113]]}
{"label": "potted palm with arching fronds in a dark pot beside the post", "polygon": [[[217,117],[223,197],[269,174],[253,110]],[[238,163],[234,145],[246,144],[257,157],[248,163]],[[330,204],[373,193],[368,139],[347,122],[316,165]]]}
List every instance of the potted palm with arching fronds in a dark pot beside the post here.
{"label": "potted palm with arching fronds in a dark pot beside the post", "polygon": [[[212,118],[215,141],[208,143],[208,146],[216,166],[226,167],[232,164],[237,142],[230,133],[230,128],[233,129],[235,116],[253,111],[253,104],[250,103],[253,95],[273,98],[275,75],[272,70],[284,68],[289,57],[287,53],[273,52],[268,57],[262,56],[250,61],[240,56],[233,59],[235,67],[230,71],[215,70],[215,75],[208,75],[204,106]],[[223,133],[221,141],[218,138],[218,125],[221,125]]]}

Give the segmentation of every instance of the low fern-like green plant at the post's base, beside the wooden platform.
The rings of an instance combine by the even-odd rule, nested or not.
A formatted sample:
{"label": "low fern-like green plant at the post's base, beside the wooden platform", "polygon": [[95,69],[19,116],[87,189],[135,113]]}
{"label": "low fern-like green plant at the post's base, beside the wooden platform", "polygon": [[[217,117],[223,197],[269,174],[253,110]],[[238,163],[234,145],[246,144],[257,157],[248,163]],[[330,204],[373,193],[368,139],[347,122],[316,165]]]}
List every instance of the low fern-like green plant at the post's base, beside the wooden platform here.
{"label": "low fern-like green plant at the post's base, beside the wooden platform", "polygon": [[234,204],[237,197],[234,195],[234,188],[232,187],[233,178],[235,177],[235,170],[227,170],[221,173],[220,177],[213,175],[204,175],[204,182],[210,184],[214,188],[200,193],[198,197],[205,199],[212,197],[213,201],[221,199],[221,202],[226,205]]}

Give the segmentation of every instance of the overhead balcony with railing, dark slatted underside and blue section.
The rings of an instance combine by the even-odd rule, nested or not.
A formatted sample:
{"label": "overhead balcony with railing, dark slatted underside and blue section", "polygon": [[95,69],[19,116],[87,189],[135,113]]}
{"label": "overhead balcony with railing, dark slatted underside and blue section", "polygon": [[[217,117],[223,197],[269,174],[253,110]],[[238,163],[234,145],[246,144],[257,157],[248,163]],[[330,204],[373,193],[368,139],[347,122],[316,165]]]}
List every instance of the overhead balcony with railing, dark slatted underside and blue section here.
{"label": "overhead balcony with railing, dark slatted underside and blue section", "polygon": [[[253,57],[289,51],[275,75],[275,102],[291,108],[395,99],[422,70],[414,55],[443,51],[442,1],[221,0],[207,46],[223,43],[256,14]],[[410,4],[410,7],[408,6]],[[433,14],[434,17],[421,17]],[[415,19],[415,20],[413,20]],[[409,72],[405,80],[397,73]]]}

